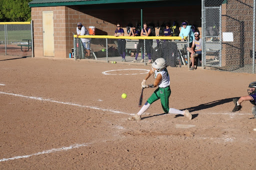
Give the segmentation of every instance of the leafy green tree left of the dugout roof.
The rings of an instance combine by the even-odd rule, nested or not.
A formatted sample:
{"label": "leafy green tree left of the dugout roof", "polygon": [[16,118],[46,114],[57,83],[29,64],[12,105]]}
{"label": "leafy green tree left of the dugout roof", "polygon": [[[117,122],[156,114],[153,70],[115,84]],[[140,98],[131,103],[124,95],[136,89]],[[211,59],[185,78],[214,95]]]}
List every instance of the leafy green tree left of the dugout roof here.
{"label": "leafy green tree left of the dugout roof", "polygon": [[0,0],[0,21],[30,21],[32,0]]}

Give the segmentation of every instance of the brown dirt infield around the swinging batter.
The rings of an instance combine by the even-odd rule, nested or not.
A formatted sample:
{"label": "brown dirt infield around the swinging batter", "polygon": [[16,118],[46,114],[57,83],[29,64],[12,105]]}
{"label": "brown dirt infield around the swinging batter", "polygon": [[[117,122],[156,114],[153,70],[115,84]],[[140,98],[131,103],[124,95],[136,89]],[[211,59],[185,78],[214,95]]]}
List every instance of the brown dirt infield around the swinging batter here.
{"label": "brown dirt infield around the swinging batter", "polygon": [[[0,169],[255,169],[252,105],[230,112],[253,74],[168,67],[169,105],[193,119],[163,114],[157,101],[141,121],[127,121],[148,69],[0,56]],[[154,90],[144,90],[143,103]]]}

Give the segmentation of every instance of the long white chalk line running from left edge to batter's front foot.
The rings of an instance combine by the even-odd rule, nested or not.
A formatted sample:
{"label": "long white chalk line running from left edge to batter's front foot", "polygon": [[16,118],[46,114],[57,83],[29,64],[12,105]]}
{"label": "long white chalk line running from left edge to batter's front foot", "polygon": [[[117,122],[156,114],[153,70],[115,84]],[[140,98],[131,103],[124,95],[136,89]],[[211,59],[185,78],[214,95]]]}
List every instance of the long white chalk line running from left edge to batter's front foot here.
{"label": "long white chalk line running from left edge to batter's front foot", "polygon": [[102,108],[98,108],[98,107],[94,107],[94,106],[83,106],[83,105],[69,103],[69,102],[59,102],[59,101],[55,101],[55,100],[51,100],[51,99],[43,99],[41,97],[23,96],[23,95],[20,95],[20,94],[5,93],[5,92],[0,92],[0,94],[7,94],[7,95],[12,95],[12,96],[24,97],[24,98],[28,98],[28,99],[41,100],[41,101],[47,101],[47,102],[60,103],[60,104],[65,104],[65,105],[78,106],[78,107],[84,107],[84,108],[89,108],[89,109],[113,112],[113,113],[121,113],[121,114],[126,114],[126,115],[132,115],[132,114],[129,114],[129,113],[119,112],[119,111],[115,111],[115,110],[111,110],[111,109],[102,109]]}

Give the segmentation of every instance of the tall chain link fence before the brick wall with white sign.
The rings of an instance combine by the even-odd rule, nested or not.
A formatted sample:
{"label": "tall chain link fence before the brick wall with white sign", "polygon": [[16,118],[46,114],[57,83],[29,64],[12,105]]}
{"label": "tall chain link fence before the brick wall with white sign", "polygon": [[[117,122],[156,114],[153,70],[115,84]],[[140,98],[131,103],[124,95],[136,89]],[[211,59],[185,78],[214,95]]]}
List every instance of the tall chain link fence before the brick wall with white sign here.
{"label": "tall chain link fence before the brick wall with white sign", "polygon": [[203,66],[254,73],[255,0],[202,0]]}

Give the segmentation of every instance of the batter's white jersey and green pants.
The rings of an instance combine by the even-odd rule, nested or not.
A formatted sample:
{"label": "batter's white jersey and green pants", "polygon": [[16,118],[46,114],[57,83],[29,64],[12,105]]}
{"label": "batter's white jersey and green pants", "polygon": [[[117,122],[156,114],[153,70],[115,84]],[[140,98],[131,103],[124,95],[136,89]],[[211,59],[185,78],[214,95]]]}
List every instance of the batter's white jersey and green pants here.
{"label": "batter's white jersey and green pants", "polygon": [[155,76],[158,74],[162,75],[162,80],[158,84],[158,88],[153,92],[153,94],[147,99],[147,103],[152,104],[156,100],[161,100],[161,105],[164,113],[169,112],[169,96],[170,96],[170,77],[166,68],[157,72],[155,71]]}

